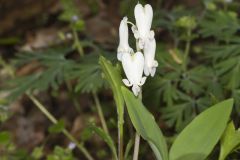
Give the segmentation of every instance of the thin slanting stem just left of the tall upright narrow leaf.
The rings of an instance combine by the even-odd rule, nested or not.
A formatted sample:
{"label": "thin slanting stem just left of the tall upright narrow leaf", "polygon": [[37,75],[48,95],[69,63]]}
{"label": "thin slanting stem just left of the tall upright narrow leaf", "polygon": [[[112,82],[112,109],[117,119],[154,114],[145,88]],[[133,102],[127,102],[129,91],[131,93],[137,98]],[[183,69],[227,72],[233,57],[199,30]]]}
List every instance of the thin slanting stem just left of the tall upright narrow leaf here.
{"label": "thin slanting stem just left of the tall upright narrow leaf", "polygon": [[95,92],[92,93],[92,95],[93,95],[93,98],[94,98],[94,101],[95,101],[95,104],[96,104],[96,108],[97,108],[97,111],[98,111],[98,115],[99,115],[103,130],[109,135],[108,127],[107,127],[106,120],[105,120],[104,115],[103,115],[102,106],[100,104],[99,98],[98,98],[98,96]]}

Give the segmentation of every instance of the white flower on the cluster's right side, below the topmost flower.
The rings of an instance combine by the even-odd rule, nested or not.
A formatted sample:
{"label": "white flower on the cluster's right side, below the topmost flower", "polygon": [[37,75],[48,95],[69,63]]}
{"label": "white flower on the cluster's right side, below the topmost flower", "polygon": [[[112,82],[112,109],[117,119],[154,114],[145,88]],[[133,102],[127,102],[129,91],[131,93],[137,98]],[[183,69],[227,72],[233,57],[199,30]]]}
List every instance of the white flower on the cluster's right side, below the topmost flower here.
{"label": "white flower on the cluster's right side, below the topmost flower", "polygon": [[149,76],[149,74],[153,77],[156,72],[156,68],[158,66],[158,62],[154,59],[156,52],[156,40],[155,38],[151,40],[147,40],[145,42],[144,51],[144,74]]}

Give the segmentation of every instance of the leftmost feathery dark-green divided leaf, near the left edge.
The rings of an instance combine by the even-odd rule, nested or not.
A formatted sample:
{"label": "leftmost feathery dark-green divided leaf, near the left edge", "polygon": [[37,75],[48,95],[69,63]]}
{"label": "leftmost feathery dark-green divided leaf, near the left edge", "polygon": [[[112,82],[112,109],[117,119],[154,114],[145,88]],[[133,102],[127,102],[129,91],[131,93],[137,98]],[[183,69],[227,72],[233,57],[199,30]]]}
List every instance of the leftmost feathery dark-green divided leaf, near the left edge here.
{"label": "leftmost feathery dark-green divided leaf, near the left edge", "polygon": [[15,59],[17,68],[32,61],[37,61],[39,62],[38,65],[45,69],[7,81],[5,85],[10,90],[8,98],[15,100],[27,91],[43,91],[49,87],[58,89],[59,85],[65,81],[65,74],[74,65],[73,60],[65,57],[70,51],[72,51],[71,48],[60,47],[19,54]]}

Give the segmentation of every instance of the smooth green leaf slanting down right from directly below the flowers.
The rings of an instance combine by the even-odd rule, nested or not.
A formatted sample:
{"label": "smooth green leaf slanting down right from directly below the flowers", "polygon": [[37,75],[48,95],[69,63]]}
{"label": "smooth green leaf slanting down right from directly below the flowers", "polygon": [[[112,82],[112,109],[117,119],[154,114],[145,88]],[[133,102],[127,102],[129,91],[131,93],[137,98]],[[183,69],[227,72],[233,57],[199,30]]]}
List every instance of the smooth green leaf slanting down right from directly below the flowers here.
{"label": "smooth green leaf slanting down right from directly below the flowers", "polygon": [[148,141],[158,160],[168,160],[167,144],[153,115],[127,88],[122,87],[128,114],[137,132]]}

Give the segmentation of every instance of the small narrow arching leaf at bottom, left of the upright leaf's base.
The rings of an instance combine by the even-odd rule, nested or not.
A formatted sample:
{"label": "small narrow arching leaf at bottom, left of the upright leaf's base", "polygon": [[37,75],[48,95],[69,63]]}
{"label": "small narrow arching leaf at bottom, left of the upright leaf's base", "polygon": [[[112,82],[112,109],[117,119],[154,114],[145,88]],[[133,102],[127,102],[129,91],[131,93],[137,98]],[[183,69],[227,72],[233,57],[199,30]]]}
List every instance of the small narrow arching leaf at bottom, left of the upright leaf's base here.
{"label": "small narrow arching leaf at bottom, left of the upright leaf's base", "polygon": [[113,153],[115,160],[117,160],[118,159],[117,151],[116,151],[116,147],[114,145],[112,138],[106,132],[104,132],[101,128],[99,128],[95,125],[91,125],[91,129],[108,144],[109,148],[111,149],[111,151]]}

